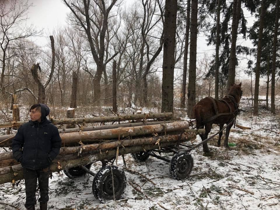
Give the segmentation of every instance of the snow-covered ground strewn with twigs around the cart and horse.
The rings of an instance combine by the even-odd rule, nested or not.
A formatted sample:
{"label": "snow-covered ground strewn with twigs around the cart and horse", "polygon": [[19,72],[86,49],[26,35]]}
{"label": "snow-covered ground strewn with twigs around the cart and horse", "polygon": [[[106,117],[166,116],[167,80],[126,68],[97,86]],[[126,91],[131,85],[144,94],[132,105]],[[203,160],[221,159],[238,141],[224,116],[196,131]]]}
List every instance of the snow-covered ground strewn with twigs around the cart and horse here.
{"label": "snow-covered ground strewn with twigs around the cart and horse", "polygon": [[[49,209],[280,209],[280,115],[260,109],[258,117],[252,116],[250,103],[241,101],[247,113],[242,112],[237,122],[251,130],[232,128],[229,142],[236,146],[230,149],[217,147],[215,137],[208,143],[210,156],[204,156],[202,147],[191,151],[194,167],[187,179],[171,178],[169,163],[162,160],[150,157],[139,163],[125,155],[127,188],[122,199],[101,204],[92,194],[92,176],[70,179],[60,172],[50,179]],[[276,104],[279,107],[279,101]],[[184,111],[175,113],[184,118]],[[217,130],[213,126],[211,133]],[[191,144],[199,141],[197,136]],[[118,166],[124,167],[121,158]],[[97,162],[91,170],[100,168]],[[14,188],[10,183],[0,185],[0,209],[24,209],[24,202],[23,181]]]}

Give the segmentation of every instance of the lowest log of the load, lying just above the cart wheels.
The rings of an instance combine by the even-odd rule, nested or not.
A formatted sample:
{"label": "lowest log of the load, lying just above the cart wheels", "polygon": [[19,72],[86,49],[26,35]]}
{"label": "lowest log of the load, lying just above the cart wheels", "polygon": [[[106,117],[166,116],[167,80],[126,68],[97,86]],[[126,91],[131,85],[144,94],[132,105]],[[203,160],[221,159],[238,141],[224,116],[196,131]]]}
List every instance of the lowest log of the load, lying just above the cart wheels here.
{"label": "lowest log of the load, lying just above the cart wheels", "polygon": [[[180,142],[184,142],[186,140],[188,140],[188,141],[194,140],[195,138],[196,138],[196,135],[193,134],[188,139],[184,139]],[[130,146],[130,147],[126,147],[126,148],[121,147],[121,148],[119,148],[119,155],[124,155],[124,154],[128,154],[128,153],[136,153],[136,152],[150,150],[150,149],[156,149],[156,148],[159,148],[159,146],[160,146],[160,148],[163,148],[163,147],[170,146],[170,145],[174,145],[174,142],[166,141],[166,142],[159,143],[159,145],[158,144],[147,144],[147,145]],[[115,157],[115,155],[116,155],[116,149],[111,149],[111,150],[106,150],[106,152],[102,152],[101,154],[94,153],[94,154],[90,154],[85,157],[81,157],[81,158],[74,159],[74,160],[64,160],[61,162],[55,162],[50,165],[50,171],[55,172],[55,171],[63,170],[66,167],[76,167],[76,166],[85,165],[85,164],[89,164],[89,163],[95,163],[100,160],[110,159],[112,157]],[[22,170],[21,165],[19,164],[19,165],[15,165],[15,166],[10,166],[8,173],[0,175],[0,184],[8,183],[8,182],[14,183],[15,181],[20,180],[22,178],[23,178],[23,170]]]}

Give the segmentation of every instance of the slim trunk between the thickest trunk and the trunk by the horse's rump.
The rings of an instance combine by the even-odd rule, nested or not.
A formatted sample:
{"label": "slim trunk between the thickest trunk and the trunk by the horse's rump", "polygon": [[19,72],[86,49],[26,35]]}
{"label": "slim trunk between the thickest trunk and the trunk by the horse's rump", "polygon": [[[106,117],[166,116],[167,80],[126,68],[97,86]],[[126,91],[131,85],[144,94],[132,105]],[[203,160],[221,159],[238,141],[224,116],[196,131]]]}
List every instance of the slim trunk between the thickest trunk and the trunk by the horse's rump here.
{"label": "slim trunk between the thickest trunk and the trunk by the horse's rump", "polygon": [[185,108],[186,101],[186,80],[188,70],[188,47],[189,47],[189,31],[190,31],[190,0],[187,2],[187,19],[186,19],[186,34],[185,34],[185,52],[184,52],[184,66],[183,66],[183,80],[180,98],[180,107]]}

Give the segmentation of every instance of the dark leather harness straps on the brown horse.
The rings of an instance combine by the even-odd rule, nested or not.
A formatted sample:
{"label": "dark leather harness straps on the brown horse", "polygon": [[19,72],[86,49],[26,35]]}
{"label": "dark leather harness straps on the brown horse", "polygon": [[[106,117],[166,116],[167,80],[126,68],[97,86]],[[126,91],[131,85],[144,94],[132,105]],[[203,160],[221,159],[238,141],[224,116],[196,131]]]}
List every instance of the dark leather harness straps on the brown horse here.
{"label": "dark leather harness straps on the brown horse", "polygon": [[[235,108],[234,111],[232,111],[232,107],[230,106],[229,102],[227,102],[227,101],[225,100],[226,97],[228,97],[228,98],[230,99],[229,102],[232,102],[232,103],[233,103],[234,108]],[[212,102],[213,102],[216,115],[212,116],[211,118],[209,118],[209,119],[207,119],[207,120],[204,120],[203,123],[207,123],[207,122],[210,122],[210,121],[212,121],[212,120],[215,120],[216,118],[218,118],[218,117],[220,117],[220,116],[222,116],[222,115],[232,115],[232,114],[233,114],[234,118],[236,118],[236,116],[238,115],[238,113],[239,113],[239,108],[238,108],[238,105],[237,105],[237,103],[236,103],[236,101],[235,101],[235,99],[234,99],[233,96],[231,96],[231,95],[226,95],[223,99],[219,100],[219,101],[223,102],[224,104],[226,104],[226,105],[228,106],[228,108],[230,109],[230,112],[228,112],[228,113],[219,113],[217,104],[216,104],[216,102],[215,102],[215,99],[213,99],[212,97],[208,97],[208,98],[211,99]],[[229,121],[229,122],[230,122],[230,121]],[[234,120],[234,125],[235,125],[235,120]]]}

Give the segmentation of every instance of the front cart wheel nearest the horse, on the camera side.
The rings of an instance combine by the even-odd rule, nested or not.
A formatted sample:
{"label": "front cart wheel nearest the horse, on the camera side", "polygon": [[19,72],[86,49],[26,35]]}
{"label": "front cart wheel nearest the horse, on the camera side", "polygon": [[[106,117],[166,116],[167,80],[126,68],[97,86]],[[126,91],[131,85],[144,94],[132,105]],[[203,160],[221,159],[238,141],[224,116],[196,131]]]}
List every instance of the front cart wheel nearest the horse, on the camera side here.
{"label": "front cart wheel nearest the horse, on the camera side", "polygon": [[186,152],[175,154],[169,163],[170,175],[177,179],[182,180],[190,175],[193,167],[192,156]]}

